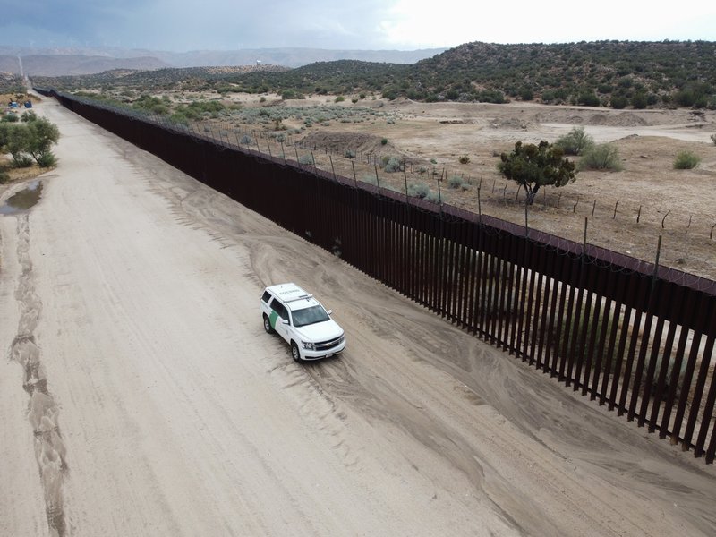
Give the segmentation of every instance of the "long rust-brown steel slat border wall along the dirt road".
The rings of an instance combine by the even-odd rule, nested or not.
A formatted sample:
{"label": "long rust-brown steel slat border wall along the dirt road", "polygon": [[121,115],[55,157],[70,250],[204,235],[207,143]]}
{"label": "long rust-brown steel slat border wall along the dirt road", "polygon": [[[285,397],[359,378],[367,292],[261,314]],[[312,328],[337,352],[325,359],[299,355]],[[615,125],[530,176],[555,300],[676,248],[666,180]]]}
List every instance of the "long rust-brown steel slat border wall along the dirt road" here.
{"label": "long rust-brown steel slat border wall along the dirt road", "polygon": [[38,91],[713,462],[716,282]]}

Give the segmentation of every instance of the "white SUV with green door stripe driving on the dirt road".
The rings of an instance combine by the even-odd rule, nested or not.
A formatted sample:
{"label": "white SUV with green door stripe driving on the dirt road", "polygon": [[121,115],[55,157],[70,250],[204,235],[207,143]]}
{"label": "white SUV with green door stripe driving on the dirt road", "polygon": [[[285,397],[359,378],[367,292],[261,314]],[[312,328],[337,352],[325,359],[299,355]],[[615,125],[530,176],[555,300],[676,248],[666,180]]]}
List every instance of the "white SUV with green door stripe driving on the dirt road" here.
{"label": "white SUV with green door stripe driving on the dirt road", "polygon": [[286,339],[296,362],[328,358],[345,349],[343,328],[330,318],[331,311],[295,284],[268,286],[260,309],[263,328]]}

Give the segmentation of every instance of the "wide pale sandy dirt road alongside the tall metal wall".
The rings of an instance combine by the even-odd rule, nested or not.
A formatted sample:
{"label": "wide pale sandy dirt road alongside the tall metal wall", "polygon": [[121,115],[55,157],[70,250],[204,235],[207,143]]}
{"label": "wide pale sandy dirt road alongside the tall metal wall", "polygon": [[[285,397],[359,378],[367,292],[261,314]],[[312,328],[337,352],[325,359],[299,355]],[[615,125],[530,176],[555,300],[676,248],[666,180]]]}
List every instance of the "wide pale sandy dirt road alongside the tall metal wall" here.
{"label": "wide pale sandy dirt road alongside the tall metal wall", "polygon": [[[0,535],[713,535],[716,470],[46,101],[0,217]],[[21,185],[0,195],[5,200]],[[262,287],[346,329],[292,362]]]}

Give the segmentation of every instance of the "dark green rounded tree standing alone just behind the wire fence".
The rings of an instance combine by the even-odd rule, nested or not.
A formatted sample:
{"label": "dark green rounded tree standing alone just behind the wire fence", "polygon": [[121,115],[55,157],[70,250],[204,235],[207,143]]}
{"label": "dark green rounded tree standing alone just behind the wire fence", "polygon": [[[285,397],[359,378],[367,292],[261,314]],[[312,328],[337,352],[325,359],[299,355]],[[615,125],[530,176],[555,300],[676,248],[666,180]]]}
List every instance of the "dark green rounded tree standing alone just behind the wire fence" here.
{"label": "dark green rounded tree standing alone just behind the wire fence", "polygon": [[547,141],[541,141],[539,145],[523,145],[518,141],[509,155],[502,153],[498,170],[524,188],[528,205],[532,205],[542,186],[560,187],[576,178],[575,163],[564,158],[562,149]]}

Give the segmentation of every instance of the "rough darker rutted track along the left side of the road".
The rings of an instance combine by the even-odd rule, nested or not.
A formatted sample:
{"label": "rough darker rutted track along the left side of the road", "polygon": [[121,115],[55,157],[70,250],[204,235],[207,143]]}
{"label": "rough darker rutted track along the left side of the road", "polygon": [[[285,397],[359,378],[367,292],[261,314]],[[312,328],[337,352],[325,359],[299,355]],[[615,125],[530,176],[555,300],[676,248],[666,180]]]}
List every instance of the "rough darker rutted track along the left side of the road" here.
{"label": "rough darker rutted track along the left side of the road", "polygon": [[35,293],[30,260],[30,220],[27,213],[17,218],[17,257],[21,266],[15,298],[20,307],[17,335],[10,346],[10,359],[20,363],[25,377],[22,388],[30,396],[28,418],[35,437],[35,458],[45,496],[45,511],[50,534],[64,537],[62,485],[67,473],[65,447],[58,424],[59,409],[47,389],[47,377],[41,350],[35,337],[42,302]]}

